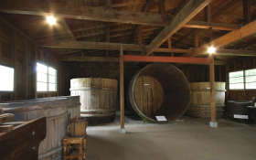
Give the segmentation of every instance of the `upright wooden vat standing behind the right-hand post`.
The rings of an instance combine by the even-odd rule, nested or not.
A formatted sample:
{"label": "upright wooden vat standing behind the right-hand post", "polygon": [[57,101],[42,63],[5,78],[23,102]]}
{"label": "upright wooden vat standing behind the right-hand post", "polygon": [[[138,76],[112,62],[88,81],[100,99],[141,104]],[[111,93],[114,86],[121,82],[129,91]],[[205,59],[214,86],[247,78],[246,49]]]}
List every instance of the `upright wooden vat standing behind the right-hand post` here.
{"label": "upright wooden vat standing behind the right-hand post", "polygon": [[[223,115],[225,106],[225,82],[215,82],[217,116]],[[210,118],[210,82],[190,83],[191,102],[187,114],[197,118]]]}

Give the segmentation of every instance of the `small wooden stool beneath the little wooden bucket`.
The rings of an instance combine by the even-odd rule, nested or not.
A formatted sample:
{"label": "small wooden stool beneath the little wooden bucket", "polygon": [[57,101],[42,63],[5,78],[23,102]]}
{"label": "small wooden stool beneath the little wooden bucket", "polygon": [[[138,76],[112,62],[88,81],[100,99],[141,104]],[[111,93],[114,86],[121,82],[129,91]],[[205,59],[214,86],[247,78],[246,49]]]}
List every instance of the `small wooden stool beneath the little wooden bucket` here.
{"label": "small wooden stool beneath the little wooden bucket", "polygon": [[87,135],[82,137],[66,137],[63,139],[63,160],[85,159],[86,138]]}

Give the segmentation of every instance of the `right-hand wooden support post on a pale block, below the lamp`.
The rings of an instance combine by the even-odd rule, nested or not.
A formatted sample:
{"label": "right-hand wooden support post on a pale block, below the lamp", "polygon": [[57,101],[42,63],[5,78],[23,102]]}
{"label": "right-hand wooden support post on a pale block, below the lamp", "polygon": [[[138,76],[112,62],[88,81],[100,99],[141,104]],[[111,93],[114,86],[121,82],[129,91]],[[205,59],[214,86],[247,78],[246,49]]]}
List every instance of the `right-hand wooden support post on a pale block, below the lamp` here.
{"label": "right-hand wooden support post on a pale block, below the lamp", "polygon": [[216,103],[215,103],[215,70],[214,70],[214,56],[210,55],[211,63],[209,65],[209,80],[210,80],[210,117],[211,122],[209,126],[217,128],[218,123],[216,119]]}

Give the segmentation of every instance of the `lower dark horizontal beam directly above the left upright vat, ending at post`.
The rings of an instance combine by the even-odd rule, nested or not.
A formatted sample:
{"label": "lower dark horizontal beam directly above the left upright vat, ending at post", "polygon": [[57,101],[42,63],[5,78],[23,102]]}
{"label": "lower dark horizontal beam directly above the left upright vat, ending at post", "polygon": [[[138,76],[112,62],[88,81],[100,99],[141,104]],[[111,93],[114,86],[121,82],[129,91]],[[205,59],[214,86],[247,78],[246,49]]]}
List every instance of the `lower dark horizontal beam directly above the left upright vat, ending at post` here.
{"label": "lower dark horizontal beam directly above the left upright vat, ending at post", "polygon": [[67,57],[61,59],[62,61],[78,61],[78,62],[118,62],[118,58],[110,58],[110,57]]}

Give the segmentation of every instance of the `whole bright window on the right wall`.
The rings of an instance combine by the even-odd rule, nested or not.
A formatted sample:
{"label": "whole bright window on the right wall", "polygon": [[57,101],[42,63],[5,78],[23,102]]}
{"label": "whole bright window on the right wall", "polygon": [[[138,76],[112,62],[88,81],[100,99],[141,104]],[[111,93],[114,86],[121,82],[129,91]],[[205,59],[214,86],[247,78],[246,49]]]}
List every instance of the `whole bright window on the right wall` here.
{"label": "whole bright window on the right wall", "polygon": [[256,89],[256,69],[229,72],[229,90]]}

